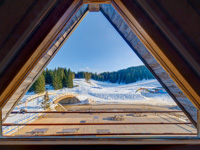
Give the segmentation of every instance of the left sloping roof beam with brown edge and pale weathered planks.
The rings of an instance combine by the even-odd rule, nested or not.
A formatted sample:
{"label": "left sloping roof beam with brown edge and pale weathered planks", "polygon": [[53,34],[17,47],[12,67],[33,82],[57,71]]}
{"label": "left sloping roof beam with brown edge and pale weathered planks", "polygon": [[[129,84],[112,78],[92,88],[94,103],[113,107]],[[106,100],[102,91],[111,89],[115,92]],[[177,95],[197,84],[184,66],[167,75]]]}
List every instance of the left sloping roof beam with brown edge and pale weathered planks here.
{"label": "left sloping roof beam with brown edge and pale weathered planks", "polygon": [[[65,3],[65,4],[68,4],[68,3]],[[64,7],[64,6],[62,6],[62,7]],[[59,7],[57,7],[57,9],[59,9]],[[40,75],[42,70],[46,67],[46,65],[53,58],[53,56],[55,56],[55,54],[59,50],[59,48],[62,47],[63,43],[67,40],[67,38],[71,35],[71,33],[75,30],[75,28],[78,26],[78,24],[84,18],[85,14],[88,10],[88,6],[81,5],[80,1],[74,1],[71,5],[71,8],[67,9],[67,11],[66,11],[66,8],[63,8],[63,9],[65,10],[64,16],[62,16],[62,18],[60,20],[60,21],[62,21],[62,26],[60,24],[61,22],[59,22],[59,21],[57,22],[57,23],[59,23],[59,25],[54,24],[53,32],[55,34],[52,33],[51,35],[49,35],[49,34],[47,35],[46,38],[51,39],[50,41],[48,41],[49,42],[48,45],[42,44],[42,46],[47,46],[46,48],[43,49],[45,51],[45,52],[43,52],[43,55],[41,55],[41,56],[39,56],[39,58],[35,59],[35,62],[32,62],[32,64],[31,64],[32,67],[31,67],[31,65],[26,66],[26,67],[31,67],[31,68],[29,68],[30,70],[28,71],[28,73],[25,74],[23,79],[21,79],[21,81],[19,80],[19,86],[13,87],[13,88],[15,88],[14,89],[15,91],[13,91],[13,94],[12,95],[9,94],[9,97],[5,98],[4,101],[2,100],[3,97],[0,98],[0,100],[1,100],[0,102],[3,102],[3,103],[1,103],[1,108],[3,108],[2,109],[3,121],[9,115],[9,113],[14,109],[14,107],[17,105],[18,101],[23,97],[23,95],[27,92],[29,87],[31,87],[31,85],[37,79],[37,76]],[[55,14],[52,14],[52,17],[55,18]],[[55,30],[55,28],[57,30]],[[47,42],[47,41],[45,40],[45,42]],[[54,42],[54,43],[52,43],[52,42]],[[39,52],[41,51],[41,47],[38,47],[38,51]],[[24,55],[24,56],[26,56],[26,55]],[[9,100],[9,102],[8,102],[8,100]]]}

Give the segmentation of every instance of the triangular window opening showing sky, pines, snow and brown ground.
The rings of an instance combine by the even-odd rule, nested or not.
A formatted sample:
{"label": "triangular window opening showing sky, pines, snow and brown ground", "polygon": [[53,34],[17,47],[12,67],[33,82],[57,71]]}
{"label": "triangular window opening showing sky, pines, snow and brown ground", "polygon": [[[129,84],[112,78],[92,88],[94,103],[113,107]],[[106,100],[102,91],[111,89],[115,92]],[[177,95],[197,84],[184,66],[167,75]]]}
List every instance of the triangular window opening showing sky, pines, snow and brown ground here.
{"label": "triangular window opening showing sky, pines, snow and brown ground", "polygon": [[46,57],[60,51],[43,58],[46,65],[52,59],[45,71],[36,66],[41,75],[5,120],[4,136],[196,133],[168,95],[172,81],[167,74],[166,82],[160,78],[161,66],[110,5],[101,5],[101,12],[78,27],[84,13],[77,13],[63,29]]}

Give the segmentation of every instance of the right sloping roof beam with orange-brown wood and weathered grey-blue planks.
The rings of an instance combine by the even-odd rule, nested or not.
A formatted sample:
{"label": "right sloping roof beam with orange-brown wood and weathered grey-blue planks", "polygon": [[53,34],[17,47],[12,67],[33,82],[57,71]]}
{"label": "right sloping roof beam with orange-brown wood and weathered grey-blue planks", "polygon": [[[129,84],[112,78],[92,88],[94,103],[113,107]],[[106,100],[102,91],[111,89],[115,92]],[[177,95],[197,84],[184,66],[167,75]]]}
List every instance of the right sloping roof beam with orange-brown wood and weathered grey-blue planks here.
{"label": "right sloping roof beam with orange-brown wood and weathered grey-blue planks", "polygon": [[[133,3],[133,1],[129,1],[129,2],[127,2],[127,4],[129,4],[129,3]],[[143,62],[145,63],[145,61],[147,61],[147,63],[148,63],[148,61],[151,63],[150,65],[148,65],[147,63],[145,63],[146,65],[147,65],[147,67],[152,71],[152,68],[154,68],[154,69],[156,69],[155,71],[152,71],[152,73],[155,75],[155,73],[157,74],[156,76],[156,78],[159,80],[159,81],[161,81],[160,83],[165,87],[165,89],[168,91],[168,93],[172,96],[172,98],[177,102],[177,104],[179,105],[179,107],[186,113],[186,115],[190,118],[190,120],[194,123],[194,125],[196,126],[197,124],[196,124],[196,122],[197,122],[197,109],[196,108],[198,108],[198,105],[199,105],[199,103],[198,103],[198,91],[196,91],[196,99],[194,99],[194,97],[193,97],[193,94],[194,93],[192,93],[192,92],[194,92],[194,91],[191,91],[191,90],[189,90],[189,89],[187,89],[187,86],[186,85],[188,85],[189,83],[187,83],[185,86],[183,86],[182,85],[182,83],[180,83],[180,82],[178,82],[178,81],[181,81],[180,79],[182,79],[182,78],[179,78],[178,77],[178,75],[180,75],[180,73],[179,74],[176,74],[176,76],[175,76],[175,74],[173,74],[174,76],[172,76],[172,71],[174,71],[174,68],[172,69],[172,66],[170,66],[169,65],[169,58],[168,59],[164,59],[163,60],[163,57],[160,57],[161,56],[161,53],[156,53],[157,51],[155,51],[155,49],[153,49],[153,48],[155,48],[155,47],[152,47],[151,45],[149,45],[149,43],[148,43],[148,40],[149,39],[151,39],[150,37],[149,37],[149,39],[145,39],[145,35],[147,35],[147,33],[145,33],[145,31],[143,30],[143,28],[140,26],[140,24],[139,24],[139,22],[140,21],[137,21],[137,20],[134,20],[134,16],[132,16],[131,15],[131,13],[130,12],[128,12],[128,10],[126,9],[126,7],[122,4],[122,2],[121,1],[112,1],[112,5],[116,8],[116,10],[119,12],[119,14],[123,17],[123,20],[125,20],[126,22],[127,22],[127,24],[128,24],[128,26],[131,28],[131,30],[132,31],[134,31],[134,33],[138,36],[138,38],[144,43],[144,45],[145,45],[145,47],[148,49],[148,51],[150,51],[151,53],[149,53],[149,52],[147,52],[147,50],[145,50],[146,48],[144,47],[144,46],[136,46],[136,50],[138,49],[139,50],[139,56],[142,56],[142,55],[144,55],[144,57],[146,57],[146,58],[143,58]],[[134,5],[134,7],[136,7],[135,5]],[[102,8],[102,7],[101,7]],[[133,8],[133,6],[131,7],[131,8]],[[135,9],[134,9],[135,10]],[[136,9],[137,10],[137,9]],[[110,13],[112,13],[112,10],[110,10],[110,9],[107,9],[107,10],[105,10],[104,9],[104,12],[106,12],[107,11],[107,14],[110,14]],[[133,13],[134,14],[134,13]],[[141,15],[141,12],[140,13],[138,13],[138,15]],[[109,15],[108,15],[109,16]],[[114,17],[116,17],[116,16],[109,16],[109,17],[107,17],[108,19],[109,18],[114,18]],[[116,18],[115,18],[116,19]],[[119,18],[118,18],[119,19]],[[132,20],[130,20],[130,19],[132,19]],[[140,20],[141,18],[139,18],[138,17],[138,19]],[[111,19],[112,20],[112,19]],[[112,23],[113,21],[111,21],[111,23]],[[112,24],[115,24],[115,23],[112,23]],[[154,25],[154,24],[153,24]],[[152,25],[152,26],[153,26]],[[126,26],[125,26],[126,27]],[[124,27],[124,24],[120,24],[120,22],[117,22],[116,23],[116,29],[117,30],[121,30],[121,29],[123,29],[123,28],[125,28]],[[121,31],[120,31],[121,32]],[[125,31],[125,37],[127,36],[127,32],[130,32],[128,29]],[[120,33],[121,34],[121,33]],[[142,34],[144,34],[144,35],[142,35]],[[123,34],[121,34],[122,35],[122,37],[123,37]],[[129,36],[129,37],[128,37]],[[126,41],[127,41],[127,39],[128,38],[130,38],[130,35],[128,35],[126,38],[124,38]],[[132,38],[134,38],[134,37],[132,37]],[[157,38],[157,39],[159,39],[159,38]],[[132,39],[131,39],[132,40]],[[131,41],[131,42],[133,42],[133,40]],[[135,42],[137,43],[138,42],[138,40],[137,40],[137,38],[135,39]],[[151,40],[150,40],[150,42],[151,42]],[[128,42],[129,43],[129,45],[130,45],[130,42]],[[134,45],[136,45],[136,43],[134,43],[133,42],[133,44]],[[152,43],[151,43],[152,44]],[[153,43],[154,44],[154,46],[155,46],[155,43]],[[143,45],[143,44],[142,44]],[[134,47],[134,46],[131,46],[132,48]],[[134,49],[134,48],[133,48]],[[145,51],[144,51],[145,50]],[[153,53],[153,52],[154,53]],[[161,50],[162,51],[162,50]],[[136,54],[137,54],[137,52],[136,52]],[[142,56],[143,57],[143,56]],[[149,58],[148,58],[149,57]],[[152,58],[153,57],[153,58]],[[166,57],[166,56],[165,56]],[[141,57],[140,57],[141,58]],[[155,59],[156,58],[156,59]],[[154,62],[156,61],[157,63],[153,63],[153,62],[151,62],[151,61],[153,61],[154,60]],[[166,61],[166,62],[165,62]],[[158,63],[159,62],[159,63]],[[169,66],[167,66],[167,63],[168,63],[168,65]],[[162,69],[162,67],[164,68],[164,69]],[[176,63],[174,64],[174,65],[177,65]],[[187,65],[187,64],[186,64]],[[159,67],[160,66],[160,67]],[[158,68],[160,68],[160,69],[158,69]],[[180,69],[180,68],[179,68]],[[188,68],[188,69],[191,69],[191,68]],[[159,70],[160,70],[160,73],[159,73]],[[162,71],[161,71],[162,70]],[[179,70],[180,71],[180,70]],[[183,70],[181,70],[181,71],[183,71]],[[167,73],[166,73],[167,72]],[[175,72],[175,73],[177,73],[177,72]],[[195,75],[195,74],[193,74],[193,75]],[[159,79],[159,78],[160,79]],[[174,81],[172,81],[171,79],[173,79]],[[178,81],[176,81],[176,79],[178,79]],[[186,80],[182,80],[181,82],[183,82],[183,83],[185,83],[185,81]],[[197,81],[197,82],[199,82],[199,80],[198,80],[198,77],[196,78],[196,80],[195,81]],[[173,82],[175,82],[175,83],[173,83]],[[165,85],[164,85],[164,84]],[[193,85],[195,84],[195,82],[193,82]],[[181,90],[184,92],[182,92],[179,88],[180,88],[180,86],[183,86],[183,89],[181,88]],[[191,87],[191,86],[190,86]],[[194,85],[194,87],[195,88],[197,88],[198,86],[197,86],[197,84],[196,85]],[[184,91],[184,90],[186,90],[186,92]],[[189,96],[187,95],[187,92],[190,92],[190,94],[189,94]],[[187,95],[187,97],[190,99],[188,99],[185,95]],[[191,99],[192,98],[192,99]],[[178,99],[178,101],[177,101],[177,99]],[[192,103],[193,104],[192,104]],[[195,108],[196,107],[196,108]]]}

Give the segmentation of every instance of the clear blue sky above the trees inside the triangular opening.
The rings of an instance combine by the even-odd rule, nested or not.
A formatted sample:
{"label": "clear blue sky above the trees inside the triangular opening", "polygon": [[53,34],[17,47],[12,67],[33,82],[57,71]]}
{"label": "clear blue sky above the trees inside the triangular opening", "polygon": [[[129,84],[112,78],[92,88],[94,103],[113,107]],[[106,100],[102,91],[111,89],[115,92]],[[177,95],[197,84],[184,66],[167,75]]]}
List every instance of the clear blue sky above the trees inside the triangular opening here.
{"label": "clear blue sky above the trees inside the triangular opening", "polygon": [[101,12],[88,13],[47,66],[72,71],[117,71],[143,65]]}

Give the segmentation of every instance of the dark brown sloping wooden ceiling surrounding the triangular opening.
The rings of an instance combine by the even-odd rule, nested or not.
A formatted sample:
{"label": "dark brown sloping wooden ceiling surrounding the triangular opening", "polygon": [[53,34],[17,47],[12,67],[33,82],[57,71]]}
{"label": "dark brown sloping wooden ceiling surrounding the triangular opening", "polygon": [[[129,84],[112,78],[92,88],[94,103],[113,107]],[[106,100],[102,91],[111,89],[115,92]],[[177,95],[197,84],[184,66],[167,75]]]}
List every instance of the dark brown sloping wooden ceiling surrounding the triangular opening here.
{"label": "dark brown sloping wooden ceiling surrounding the triangular opening", "polygon": [[[200,108],[200,1],[198,0],[1,1],[0,108],[10,102],[8,109],[3,112],[4,117],[16,104],[16,100],[11,103],[12,97],[22,97],[41,69],[51,60],[51,56],[56,54],[53,52],[45,59],[47,54],[51,53],[50,49],[55,48],[55,41],[62,39],[63,42],[68,37],[60,37],[60,34],[65,34],[63,29],[70,24],[68,26],[71,27],[71,30],[68,30],[70,33],[77,25],[76,21],[81,20],[86,13],[87,7],[81,10],[81,6],[91,3],[111,4],[117,10],[128,28],[144,45],[141,52],[148,50],[149,53],[146,54],[157,62],[154,65],[162,66],[167,76],[175,83],[163,82],[163,85],[175,98],[179,97],[177,100],[182,105],[181,108],[196,125],[196,118],[192,117],[196,117],[196,113],[194,112],[194,115],[189,112],[186,109],[188,106],[183,105],[188,99],[192,104],[191,108],[195,108],[193,111]],[[107,15],[109,16],[109,13]],[[120,30],[120,27],[118,29]],[[148,62],[147,58],[143,60]],[[40,66],[37,70],[38,64],[42,64],[43,67]],[[148,63],[146,65],[154,73],[156,72],[153,66]],[[34,78],[28,78],[33,74]],[[22,85],[23,87],[19,88]],[[170,91],[173,86],[174,89],[179,88],[178,93]]]}

